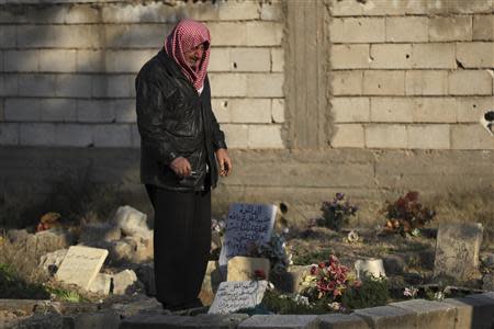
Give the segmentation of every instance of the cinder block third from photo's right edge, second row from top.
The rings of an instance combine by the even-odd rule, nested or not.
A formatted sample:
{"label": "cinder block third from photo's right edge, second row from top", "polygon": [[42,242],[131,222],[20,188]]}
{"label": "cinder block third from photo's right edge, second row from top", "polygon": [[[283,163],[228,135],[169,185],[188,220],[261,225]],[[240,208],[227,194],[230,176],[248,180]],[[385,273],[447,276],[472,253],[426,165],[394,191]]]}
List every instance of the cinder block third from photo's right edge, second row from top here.
{"label": "cinder block third from photo's right edge, second row from top", "polygon": [[429,34],[427,18],[386,18],[386,42],[420,43],[428,41]]}

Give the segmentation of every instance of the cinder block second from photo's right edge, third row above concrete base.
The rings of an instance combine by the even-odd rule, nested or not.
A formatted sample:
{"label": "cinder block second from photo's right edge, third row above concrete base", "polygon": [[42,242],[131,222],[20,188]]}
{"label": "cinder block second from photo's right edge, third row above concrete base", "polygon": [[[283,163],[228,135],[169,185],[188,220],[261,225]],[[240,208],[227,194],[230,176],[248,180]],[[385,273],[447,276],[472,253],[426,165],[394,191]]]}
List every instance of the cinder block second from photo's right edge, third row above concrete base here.
{"label": "cinder block second from photo's right edge, third row above concrete base", "polygon": [[439,70],[406,71],[405,90],[407,95],[448,94],[448,72]]}

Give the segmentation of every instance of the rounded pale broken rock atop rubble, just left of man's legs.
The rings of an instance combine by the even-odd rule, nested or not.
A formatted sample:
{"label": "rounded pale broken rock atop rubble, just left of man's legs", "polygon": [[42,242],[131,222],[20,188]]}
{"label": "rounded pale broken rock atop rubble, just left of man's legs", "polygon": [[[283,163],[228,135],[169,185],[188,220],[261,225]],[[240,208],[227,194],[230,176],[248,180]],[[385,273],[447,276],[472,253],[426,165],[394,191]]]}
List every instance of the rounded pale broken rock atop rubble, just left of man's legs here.
{"label": "rounded pale broken rock atop rubble, just left of man's legs", "polygon": [[147,237],[149,234],[146,214],[128,205],[121,206],[116,209],[113,222],[126,236]]}

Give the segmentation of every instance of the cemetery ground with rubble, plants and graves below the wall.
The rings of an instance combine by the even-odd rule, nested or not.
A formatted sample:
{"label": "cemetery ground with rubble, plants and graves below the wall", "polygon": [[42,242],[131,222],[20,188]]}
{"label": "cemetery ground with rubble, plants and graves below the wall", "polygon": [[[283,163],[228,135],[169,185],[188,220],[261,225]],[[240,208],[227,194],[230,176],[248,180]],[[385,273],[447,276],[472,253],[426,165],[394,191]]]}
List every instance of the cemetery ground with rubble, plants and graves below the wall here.
{"label": "cemetery ground with rubble, plants and graves below the wall", "polygon": [[[7,328],[116,328],[133,316],[144,314],[151,319],[170,315],[153,298],[153,239],[146,216],[127,206],[119,207],[122,201],[117,196],[92,185],[63,184],[57,189],[56,197],[52,195],[43,206],[22,213],[34,216],[40,212],[43,216],[24,218],[19,222],[22,227],[5,228],[0,238],[0,324]],[[493,291],[490,226],[483,230],[473,223],[439,226],[433,206],[422,205],[418,195],[407,193],[383,203],[374,227],[349,224],[358,208],[343,194],[324,203],[321,218],[305,226],[287,226],[278,213],[271,235],[274,239],[266,240],[265,248],[250,246],[245,256],[254,258],[229,261],[228,275],[235,273],[236,277],[218,274],[217,260],[225,241],[224,236],[221,238],[224,223],[218,220],[213,228],[212,261],[201,298],[206,305],[213,303],[221,281],[226,279],[269,280],[274,290],[268,287],[259,305],[236,311],[244,314],[238,315],[238,322],[256,314],[349,314],[400,300],[427,303],[424,299]],[[83,249],[75,248],[77,245],[108,250],[108,257],[88,257]],[[452,258],[448,254],[451,252]],[[60,277],[63,261],[82,256],[83,265],[72,264],[67,274],[79,281],[67,284],[72,279]],[[270,259],[268,266],[259,258]],[[101,259],[102,266],[96,264]],[[357,279],[359,262],[369,263],[371,274],[385,277],[361,271]],[[347,269],[347,275],[336,287],[322,287],[321,273],[329,266]],[[205,313],[207,307],[170,317]]]}

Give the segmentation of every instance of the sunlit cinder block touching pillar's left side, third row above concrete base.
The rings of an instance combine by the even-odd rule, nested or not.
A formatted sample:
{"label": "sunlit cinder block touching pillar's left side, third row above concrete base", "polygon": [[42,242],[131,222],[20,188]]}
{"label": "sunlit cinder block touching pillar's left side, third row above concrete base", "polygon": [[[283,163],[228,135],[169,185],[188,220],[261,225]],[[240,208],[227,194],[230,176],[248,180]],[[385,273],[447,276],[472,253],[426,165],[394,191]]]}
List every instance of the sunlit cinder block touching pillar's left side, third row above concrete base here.
{"label": "sunlit cinder block touching pillar's left side, third row above concrete base", "polygon": [[247,97],[282,98],[283,73],[250,73],[247,75]]}

